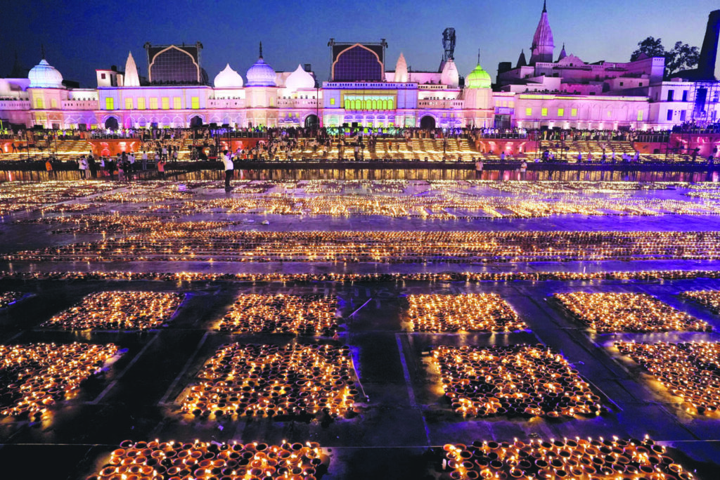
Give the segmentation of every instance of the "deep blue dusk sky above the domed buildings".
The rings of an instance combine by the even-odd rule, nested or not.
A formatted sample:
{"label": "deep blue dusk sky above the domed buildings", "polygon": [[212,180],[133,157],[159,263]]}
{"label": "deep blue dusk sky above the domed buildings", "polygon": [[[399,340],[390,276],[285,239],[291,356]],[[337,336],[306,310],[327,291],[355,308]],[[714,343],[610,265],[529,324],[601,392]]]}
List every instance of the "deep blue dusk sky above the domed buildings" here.
{"label": "deep blue dusk sky above the domed buildings", "polygon": [[[568,54],[587,62],[627,61],[636,43],[661,37],[665,47],[682,40],[701,46],[708,14],[717,0],[549,0],[555,57],[565,42]],[[210,81],[229,62],[243,76],[257,59],[258,42],[276,71],[311,63],[320,80],[330,71],[330,37],[339,42],[389,44],[386,66],[400,52],[415,71],[434,71],[441,37],[455,27],[460,74],[480,62],[493,78],[498,62],[517,61],[529,47],[542,10],[541,0],[400,1],[9,1],[0,14],[0,76],[7,76],[17,51],[32,68],[45,44],[48,62],[63,77],[95,87],[95,69],[118,65],[132,51],[140,74],[147,73],[145,42],[198,40]]]}

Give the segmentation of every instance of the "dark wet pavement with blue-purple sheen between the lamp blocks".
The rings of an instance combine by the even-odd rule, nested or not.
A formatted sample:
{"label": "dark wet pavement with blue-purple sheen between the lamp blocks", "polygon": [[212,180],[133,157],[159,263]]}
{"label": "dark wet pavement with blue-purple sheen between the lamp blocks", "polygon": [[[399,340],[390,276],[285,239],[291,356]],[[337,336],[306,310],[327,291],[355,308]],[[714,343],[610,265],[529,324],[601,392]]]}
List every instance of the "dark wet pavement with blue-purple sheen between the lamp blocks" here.
{"label": "dark wet pavement with blue-purple sheen between the lamp blocks", "polygon": [[[647,192],[643,194],[647,195]],[[214,214],[213,219],[232,217]],[[102,235],[53,235],[45,225],[0,226],[2,251],[66,245]],[[255,216],[255,218],[258,218]],[[245,226],[243,226],[245,227]],[[249,227],[249,226],[248,226]],[[541,219],[428,221],[342,217],[271,217],[273,230],[720,230],[720,217],[552,217]],[[260,228],[254,225],[253,228]],[[4,262],[6,271],[199,271],[217,273],[414,273],[446,271],[636,271],[720,269],[718,261],[641,261],[387,265],[361,263],[23,263]],[[649,381],[639,366],[621,358],[617,340],[720,341],[720,316],[681,299],[682,291],[720,289],[720,279],[665,281],[512,281],[512,282],[233,282],[53,281],[0,279],[2,291],[24,298],[0,310],[0,343],[114,343],[119,360],[86,381],[78,397],[60,402],[41,422],[0,420],[0,464],[26,471],[24,479],[83,479],[107,461],[125,439],[266,443],[316,441],[330,449],[323,479],[436,479],[441,470],[436,448],[474,440],[600,437],[642,438],[667,445],[681,463],[703,479],[720,472],[720,417],[686,413],[677,398]],[[148,332],[63,332],[40,324],[96,291],[163,291],[187,294],[167,326]],[[708,322],[710,333],[594,335],[550,296],[570,291],[642,292]],[[408,294],[496,293],[528,324],[529,330],[501,334],[431,334],[402,328]],[[243,293],[338,296],[341,330],[337,338],[217,332],[217,322]],[[224,343],[284,345],[329,343],[351,348],[361,387],[357,415],[318,422],[267,417],[183,415],[179,397],[205,361]],[[443,397],[437,373],[428,368],[434,345],[513,345],[542,343],[559,351],[591,384],[609,412],[594,418],[525,420],[493,417],[463,419]],[[11,478],[11,477],[7,477]],[[18,477],[20,478],[20,477]]]}

